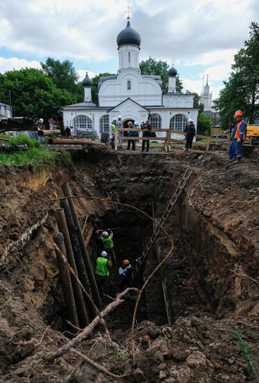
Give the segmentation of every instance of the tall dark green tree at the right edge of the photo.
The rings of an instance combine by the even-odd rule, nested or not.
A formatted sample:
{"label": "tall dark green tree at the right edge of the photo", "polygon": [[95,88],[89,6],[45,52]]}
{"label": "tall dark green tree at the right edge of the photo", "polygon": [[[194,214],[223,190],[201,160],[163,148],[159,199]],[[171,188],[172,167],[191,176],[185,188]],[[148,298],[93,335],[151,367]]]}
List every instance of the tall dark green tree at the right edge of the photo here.
{"label": "tall dark green tree at the right edge of the photo", "polygon": [[259,26],[251,23],[250,38],[234,56],[232,72],[214,107],[220,111],[221,125],[228,126],[237,109],[250,123],[259,115]]}

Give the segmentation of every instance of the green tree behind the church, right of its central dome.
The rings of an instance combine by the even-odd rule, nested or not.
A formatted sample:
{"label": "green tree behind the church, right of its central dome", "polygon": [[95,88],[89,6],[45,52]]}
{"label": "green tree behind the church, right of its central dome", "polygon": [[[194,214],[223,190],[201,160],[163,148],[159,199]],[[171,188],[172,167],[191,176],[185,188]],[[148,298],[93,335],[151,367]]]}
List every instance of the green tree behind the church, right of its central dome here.
{"label": "green tree behind the church, right of its central dome", "polygon": [[[139,64],[141,75],[158,75],[163,81],[163,93],[168,91],[168,69],[169,65],[166,61],[156,61],[155,58],[149,57],[147,60],[141,61]],[[176,77],[176,91],[182,93],[182,81],[179,75]]]}

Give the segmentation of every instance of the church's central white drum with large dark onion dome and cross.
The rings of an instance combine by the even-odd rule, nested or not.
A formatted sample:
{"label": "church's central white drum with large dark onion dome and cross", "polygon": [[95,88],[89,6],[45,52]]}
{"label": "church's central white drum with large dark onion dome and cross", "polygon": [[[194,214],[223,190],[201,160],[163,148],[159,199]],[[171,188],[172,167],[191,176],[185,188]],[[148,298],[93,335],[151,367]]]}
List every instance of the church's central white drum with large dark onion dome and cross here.
{"label": "church's central white drum with large dark onion dome and cross", "polygon": [[139,70],[139,51],[141,37],[139,32],[132,29],[130,16],[127,17],[127,26],[117,36],[119,72],[132,68]]}

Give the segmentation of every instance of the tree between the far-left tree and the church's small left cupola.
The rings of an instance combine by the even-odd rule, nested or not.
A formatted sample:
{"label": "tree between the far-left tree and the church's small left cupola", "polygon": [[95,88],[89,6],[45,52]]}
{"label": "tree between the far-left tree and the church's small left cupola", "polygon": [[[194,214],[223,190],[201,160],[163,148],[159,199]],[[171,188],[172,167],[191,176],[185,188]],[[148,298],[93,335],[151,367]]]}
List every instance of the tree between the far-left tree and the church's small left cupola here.
{"label": "tree between the far-left tree and the church's small left cupola", "polygon": [[60,61],[48,57],[46,62],[40,63],[40,65],[42,67],[42,72],[52,79],[56,88],[65,89],[73,95],[77,95],[77,81],[79,75],[77,75],[71,61]]}

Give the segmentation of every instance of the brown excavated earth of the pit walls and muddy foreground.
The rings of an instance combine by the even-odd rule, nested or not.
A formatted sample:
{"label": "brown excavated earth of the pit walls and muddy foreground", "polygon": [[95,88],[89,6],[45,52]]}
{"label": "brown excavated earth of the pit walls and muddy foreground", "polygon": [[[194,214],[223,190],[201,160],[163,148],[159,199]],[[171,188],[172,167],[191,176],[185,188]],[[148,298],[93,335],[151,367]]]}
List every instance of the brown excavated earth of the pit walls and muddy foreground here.
{"label": "brown excavated earth of the pit walls and muddy foreground", "polygon": [[[133,295],[107,317],[113,344],[102,327],[81,350],[122,379],[108,377],[72,352],[52,364],[46,352],[70,338],[56,265],[54,210],[61,184],[73,194],[127,203],[159,218],[186,169],[193,174],[166,231],[173,255],[166,262],[164,305],[159,272],[141,300],[130,349]],[[257,382],[259,367],[258,159],[226,162],[226,153],[111,153],[91,148],[71,169],[37,176],[29,169],[0,168],[0,381],[1,382]],[[101,251],[95,230],[114,233],[117,265],[132,265],[152,234],[152,221],[123,206],[79,198],[81,226],[93,230],[88,252],[93,265]],[[24,233],[32,233],[29,236]],[[160,235],[162,256],[169,250]],[[134,286],[157,265],[151,251]],[[104,305],[112,302],[120,280],[111,270]],[[256,367],[257,366],[257,367]]]}

